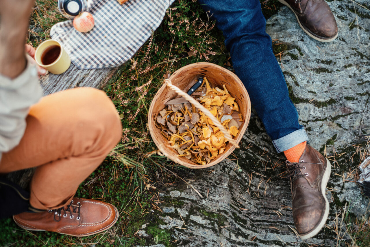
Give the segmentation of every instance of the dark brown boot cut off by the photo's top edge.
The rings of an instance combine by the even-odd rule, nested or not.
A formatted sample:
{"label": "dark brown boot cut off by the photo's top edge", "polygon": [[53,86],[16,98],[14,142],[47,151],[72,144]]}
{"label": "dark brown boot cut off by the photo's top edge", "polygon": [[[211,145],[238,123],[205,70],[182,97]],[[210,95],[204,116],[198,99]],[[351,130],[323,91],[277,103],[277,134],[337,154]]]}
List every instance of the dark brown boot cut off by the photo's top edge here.
{"label": "dark brown boot cut off by the photo's top edge", "polygon": [[279,0],[295,14],[299,26],[313,39],[330,42],[338,36],[337,22],[324,0]]}

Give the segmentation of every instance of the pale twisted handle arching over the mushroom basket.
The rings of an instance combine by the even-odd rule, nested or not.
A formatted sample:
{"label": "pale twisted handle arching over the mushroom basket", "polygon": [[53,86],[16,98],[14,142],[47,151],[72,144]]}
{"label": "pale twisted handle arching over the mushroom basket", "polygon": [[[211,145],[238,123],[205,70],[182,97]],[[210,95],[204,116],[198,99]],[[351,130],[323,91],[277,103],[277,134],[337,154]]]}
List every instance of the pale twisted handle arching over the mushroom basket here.
{"label": "pale twisted handle arching over the mushroom basket", "polygon": [[220,121],[218,121],[218,119],[215,116],[213,116],[213,114],[210,111],[208,111],[207,108],[205,108],[198,101],[196,101],[195,99],[193,99],[193,97],[191,97],[190,95],[188,95],[187,93],[185,93],[184,91],[182,91],[181,89],[179,89],[178,87],[176,87],[175,85],[173,85],[172,82],[171,82],[171,80],[165,79],[164,80],[164,83],[171,90],[175,91],[179,96],[184,97],[187,101],[189,101],[190,103],[192,103],[193,105],[195,105],[196,108],[198,108],[206,116],[208,116],[212,120],[212,122],[216,125],[216,127],[218,127],[220,129],[220,131],[222,132],[223,136],[225,136],[225,138],[232,145],[234,145],[236,148],[239,148],[239,145],[238,145],[238,143],[236,143],[235,139],[232,138],[232,136],[228,133],[228,131],[226,131],[225,127],[220,123]]}

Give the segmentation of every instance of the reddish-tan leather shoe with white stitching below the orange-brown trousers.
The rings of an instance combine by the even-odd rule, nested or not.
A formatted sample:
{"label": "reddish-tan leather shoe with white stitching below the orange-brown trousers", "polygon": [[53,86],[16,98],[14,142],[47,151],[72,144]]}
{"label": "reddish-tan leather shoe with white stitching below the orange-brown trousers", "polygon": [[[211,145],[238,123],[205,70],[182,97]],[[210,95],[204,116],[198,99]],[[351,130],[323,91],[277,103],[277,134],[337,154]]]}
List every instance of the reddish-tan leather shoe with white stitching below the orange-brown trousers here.
{"label": "reddish-tan leather shoe with white stitching below the orange-brown trousers", "polygon": [[13,216],[20,227],[34,231],[54,231],[76,237],[100,233],[118,220],[118,210],[112,204],[82,198],[73,198],[63,208],[24,212]]}

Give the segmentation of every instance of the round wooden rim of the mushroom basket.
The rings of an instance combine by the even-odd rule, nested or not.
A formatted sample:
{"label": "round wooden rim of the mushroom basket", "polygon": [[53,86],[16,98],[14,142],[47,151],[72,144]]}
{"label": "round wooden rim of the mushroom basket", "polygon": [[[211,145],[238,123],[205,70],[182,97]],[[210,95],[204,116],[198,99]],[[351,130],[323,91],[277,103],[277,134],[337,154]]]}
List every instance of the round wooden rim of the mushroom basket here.
{"label": "round wooden rim of the mushroom basket", "polygon": [[[185,65],[183,67],[181,67],[180,69],[176,70],[174,73],[172,73],[172,75],[168,78],[169,80],[174,80],[177,76],[177,74],[183,72],[184,70],[188,70],[190,67],[192,69],[194,69],[194,67],[204,67],[204,66],[208,66],[208,67],[214,67],[218,70],[220,70],[220,72],[222,73],[226,73],[228,74],[229,76],[232,76],[233,79],[235,80],[236,83],[240,84],[242,87],[240,87],[240,89],[243,91],[242,93],[245,95],[245,100],[246,100],[246,105],[247,105],[247,109],[246,109],[246,118],[244,119],[243,121],[243,125],[242,125],[242,128],[240,129],[240,132],[238,134],[238,136],[236,137],[235,141],[237,144],[239,144],[239,142],[241,141],[241,139],[243,138],[243,135],[246,131],[246,128],[248,127],[248,124],[249,124],[249,120],[250,120],[250,112],[251,112],[251,103],[250,103],[250,98],[249,98],[249,94],[245,88],[245,86],[243,85],[242,81],[239,79],[238,76],[235,75],[235,73],[231,72],[230,70],[224,68],[224,67],[221,67],[219,65],[216,65],[214,63],[208,63],[208,62],[198,62],[198,63],[191,63],[189,65]],[[175,163],[177,164],[180,164],[180,165],[183,165],[185,167],[188,167],[188,168],[192,168],[192,169],[202,169],[202,168],[208,168],[208,167],[211,167],[213,165],[216,165],[218,164],[219,162],[223,161],[222,160],[219,160],[217,161],[216,159],[213,159],[211,162],[209,162],[208,164],[206,165],[195,165],[195,164],[184,164],[184,162],[179,159],[178,157],[172,157],[173,155],[169,155],[167,152],[166,152],[166,148],[163,144],[159,143],[159,141],[157,140],[157,137],[154,136],[154,134],[152,133],[151,129],[155,129],[157,128],[157,126],[155,126],[154,122],[151,121],[151,116],[153,115],[153,102],[155,100],[158,100],[159,98],[159,93],[161,93],[163,90],[165,90],[166,88],[166,85],[163,84],[157,91],[157,93],[155,94],[152,102],[151,102],[151,105],[149,107],[149,112],[148,112],[148,126],[149,126],[149,132],[151,134],[151,137],[155,143],[155,145],[157,146],[157,148],[159,149],[159,151],[162,152],[162,154],[164,154],[168,159],[171,159],[172,161],[174,161]],[[170,90],[170,89],[168,89]],[[230,91],[230,90],[229,90]],[[241,134],[243,133],[243,134]],[[230,155],[233,151],[235,150],[235,146],[231,146],[227,151],[226,153],[228,153],[228,155]],[[227,157],[227,156],[226,156]],[[224,158],[225,159],[225,158]]]}

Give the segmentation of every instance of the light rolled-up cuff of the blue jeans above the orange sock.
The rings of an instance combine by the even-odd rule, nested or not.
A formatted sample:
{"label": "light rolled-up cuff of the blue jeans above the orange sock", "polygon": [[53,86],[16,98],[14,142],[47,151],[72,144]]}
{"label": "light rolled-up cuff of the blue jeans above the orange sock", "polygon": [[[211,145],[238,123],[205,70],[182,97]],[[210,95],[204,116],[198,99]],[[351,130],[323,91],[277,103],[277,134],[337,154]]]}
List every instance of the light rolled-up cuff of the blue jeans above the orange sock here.
{"label": "light rolled-up cuff of the blue jeans above the orange sock", "polygon": [[308,137],[304,128],[297,129],[296,131],[287,134],[279,139],[273,140],[272,143],[278,153],[293,148],[304,141],[308,141]]}

